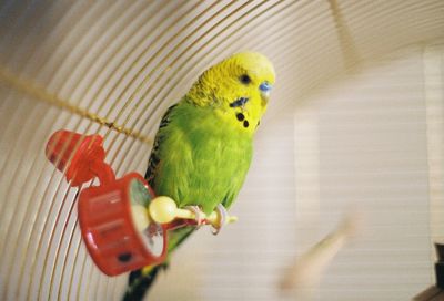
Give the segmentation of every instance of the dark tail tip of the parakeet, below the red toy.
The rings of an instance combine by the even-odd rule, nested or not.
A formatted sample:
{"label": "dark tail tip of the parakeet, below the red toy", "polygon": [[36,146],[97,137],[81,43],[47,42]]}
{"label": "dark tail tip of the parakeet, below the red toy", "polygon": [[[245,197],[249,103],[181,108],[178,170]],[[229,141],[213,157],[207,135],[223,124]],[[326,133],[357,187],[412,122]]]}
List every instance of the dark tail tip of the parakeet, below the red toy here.
{"label": "dark tail tip of the parakeet, below the red toy", "polygon": [[123,295],[123,301],[141,301],[145,293],[150,290],[157,274],[164,264],[155,267],[147,267],[141,270],[132,271],[128,283],[127,291]]}

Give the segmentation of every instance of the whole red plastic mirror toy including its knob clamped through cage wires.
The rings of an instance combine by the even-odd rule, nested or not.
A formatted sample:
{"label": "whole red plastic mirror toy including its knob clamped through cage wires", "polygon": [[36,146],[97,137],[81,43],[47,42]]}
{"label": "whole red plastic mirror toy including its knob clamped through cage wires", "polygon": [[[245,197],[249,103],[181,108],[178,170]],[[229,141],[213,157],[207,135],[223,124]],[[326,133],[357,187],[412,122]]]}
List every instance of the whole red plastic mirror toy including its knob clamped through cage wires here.
{"label": "whole red plastic mirror toy including its knob clamped through cage wires", "polygon": [[99,135],[59,131],[46,148],[48,159],[65,172],[71,186],[94,177],[100,180],[99,186],[79,194],[79,224],[88,251],[108,276],[160,263],[167,256],[167,231],[163,225],[149,220],[147,212],[154,194],[137,173],[115,179],[103,162],[102,143]]}

